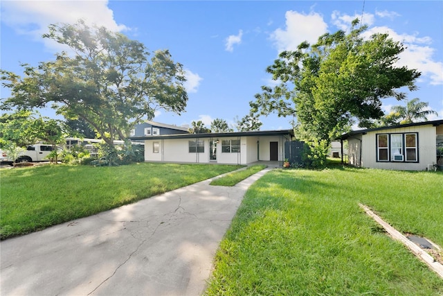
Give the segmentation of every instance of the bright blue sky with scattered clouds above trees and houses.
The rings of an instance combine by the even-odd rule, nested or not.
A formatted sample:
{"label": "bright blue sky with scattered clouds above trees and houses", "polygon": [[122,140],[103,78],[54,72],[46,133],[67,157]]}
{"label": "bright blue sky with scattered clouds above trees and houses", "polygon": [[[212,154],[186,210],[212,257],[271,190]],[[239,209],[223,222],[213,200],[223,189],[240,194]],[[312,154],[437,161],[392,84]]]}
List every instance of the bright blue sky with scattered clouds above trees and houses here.
{"label": "bright blue sky with scattered clouds above trees and houses", "polygon": [[[234,123],[262,85],[265,69],[282,50],[314,43],[323,33],[348,30],[362,17],[369,33],[389,33],[408,49],[399,65],[418,69],[418,91],[408,98],[429,103],[443,118],[443,1],[1,1],[1,69],[21,75],[20,62],[37,65],[60,46],[42,40],[48,24],[85,19],[143,42],[169,49],[183,64],[188,107],[181,116],[164,111],[154,121],[174,125],[216,118]],[[363,9],[364,7],[364,9]],[[1,89],[1,98],[9,95]],[[406,105],[383,101],[384,110]],[[42,114],[53,116],[43,110]],[[289,119],[261,116],[261,130],[290,128]]]}

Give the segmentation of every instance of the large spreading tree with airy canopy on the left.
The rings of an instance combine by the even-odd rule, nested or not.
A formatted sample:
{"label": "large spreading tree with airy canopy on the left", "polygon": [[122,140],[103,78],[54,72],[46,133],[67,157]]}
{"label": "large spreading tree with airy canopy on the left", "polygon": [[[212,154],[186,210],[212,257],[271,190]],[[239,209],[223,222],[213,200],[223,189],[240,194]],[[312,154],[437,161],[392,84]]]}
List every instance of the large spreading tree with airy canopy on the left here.
{"label": "large spreading tree with airy canopy on the left", "polygon": [[12,94],[3,108],[52,103],[66,119],[87,121],[109,145],[158,109],[185,110],[183,66],[168,51],[150,53],[141,42],[84,21],[53,24],[43,37],[69,46],[70,53],[57,53],[37,67],[22,64],[23,78],[2,71]]}

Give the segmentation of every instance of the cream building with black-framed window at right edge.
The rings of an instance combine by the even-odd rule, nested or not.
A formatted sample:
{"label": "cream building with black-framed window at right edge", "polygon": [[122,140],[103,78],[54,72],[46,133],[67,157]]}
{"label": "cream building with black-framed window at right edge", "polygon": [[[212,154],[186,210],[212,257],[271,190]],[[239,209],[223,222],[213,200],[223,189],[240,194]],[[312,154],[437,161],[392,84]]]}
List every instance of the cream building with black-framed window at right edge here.
{"label": "cream building with black-framed window at right edge", "polygon": [[[443,120],[355,130],[343,134],[349,163],[365,168],[423,171],[443,166]],[[437,156],[438,155],[438,156]]]}

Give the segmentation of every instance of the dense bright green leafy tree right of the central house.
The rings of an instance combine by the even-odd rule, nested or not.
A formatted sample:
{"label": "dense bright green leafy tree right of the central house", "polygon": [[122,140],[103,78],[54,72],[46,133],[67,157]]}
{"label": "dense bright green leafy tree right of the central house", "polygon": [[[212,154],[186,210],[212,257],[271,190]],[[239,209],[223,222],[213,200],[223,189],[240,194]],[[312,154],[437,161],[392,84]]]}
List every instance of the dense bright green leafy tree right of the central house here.
{"label": "dense bright green leafy tree right of the central house", "polygon": [[338,31],[283,51],[266,71],[275,87],[262,87],[251,102],[252,112],[296,115],[298,130],[310,140],[330,139],[346,132],[354,119],[379,119],[381,99],[404,99],[401,87],[416,89],[415,69],[397,67],[405,47],[387,34],[365,39],[366,26],[352,22],[350,33]]}

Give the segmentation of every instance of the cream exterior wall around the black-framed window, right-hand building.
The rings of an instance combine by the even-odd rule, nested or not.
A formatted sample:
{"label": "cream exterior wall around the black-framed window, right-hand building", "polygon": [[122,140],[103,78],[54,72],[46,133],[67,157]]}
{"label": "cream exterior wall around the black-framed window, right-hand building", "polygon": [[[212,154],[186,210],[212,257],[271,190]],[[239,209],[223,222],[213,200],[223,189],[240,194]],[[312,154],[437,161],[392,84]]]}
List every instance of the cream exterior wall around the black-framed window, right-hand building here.
{"label": "cream exterior wall around the black-framed window, right-hand building", "polygon": [[[396,132],[418,132],[418,162],[377,162],[376,134]],[[428,164],[435,164],[435,126],[419,125],[406,128],[377,130],[363,135],[362,166],[403,171],[423,171]]]}

